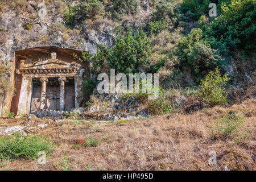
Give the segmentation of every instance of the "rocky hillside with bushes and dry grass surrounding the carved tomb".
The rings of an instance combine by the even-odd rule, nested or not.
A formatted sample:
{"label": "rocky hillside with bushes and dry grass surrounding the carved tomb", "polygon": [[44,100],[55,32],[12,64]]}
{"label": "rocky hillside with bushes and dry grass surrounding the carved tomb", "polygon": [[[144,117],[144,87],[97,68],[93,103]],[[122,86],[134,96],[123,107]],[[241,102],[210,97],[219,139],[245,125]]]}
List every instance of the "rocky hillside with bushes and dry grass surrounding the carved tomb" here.
{"label": "rocky hillside with bushes and dry grass surrounding the carved tomb", "polygon": [[[255,170],[255,7],[0,0],[0,170]],[[32,48],[25,52],[47,56],[52,47],[90,65],[91,77],[79,80],[82,104],[15,115],[6,108],[17,91],[15,54]],[[110,68],[158,73],[159,97],[98,93],[97,76]],[[35,160],[39,151],[46,165]]]}

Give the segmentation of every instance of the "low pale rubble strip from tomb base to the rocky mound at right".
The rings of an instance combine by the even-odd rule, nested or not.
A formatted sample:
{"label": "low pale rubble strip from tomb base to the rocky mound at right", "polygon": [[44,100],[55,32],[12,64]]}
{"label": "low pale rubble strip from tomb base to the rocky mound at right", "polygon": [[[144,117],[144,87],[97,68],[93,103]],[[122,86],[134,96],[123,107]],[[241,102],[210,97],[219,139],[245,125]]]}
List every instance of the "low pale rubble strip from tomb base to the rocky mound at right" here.
{"label": "low pale rubble strip from tomb base to the rocky mound at right", "polygon": [[[135,97],[123,102],[117,94],[93,96],[94,103],[86,107],[77,107],[72,111],[37,110],[31,112],[38,118],[58,119],[67,115],[77,115],[82,119],[97,119],[105,121],[119,121],[149,117],[148,109],[139,103]],[[75,118],[75,117],[74,117]]]}

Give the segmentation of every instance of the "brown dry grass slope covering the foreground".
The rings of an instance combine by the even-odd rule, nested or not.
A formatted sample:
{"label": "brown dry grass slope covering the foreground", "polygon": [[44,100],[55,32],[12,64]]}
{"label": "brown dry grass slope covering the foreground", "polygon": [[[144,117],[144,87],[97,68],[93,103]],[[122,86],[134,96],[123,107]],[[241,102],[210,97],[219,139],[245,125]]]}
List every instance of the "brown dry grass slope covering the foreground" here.
{"label": "brown dry grass slope covering the foreground", "polygon": [[[86,170],[90,166],[91,170],[224,170],[227,166],[231,170],[255,170],[255,106],[254,98],[240,105],[217,106],[188,115],[102,124],[64,122],[38,132],[55,141],[55,150],[46,165],[20,159],[4,162],[0,169]],[[210,131],[217,119],[236,110],[245,112],[245,127],[252,136],[238,143],[213,139]],[[75,144],[88,137],[100,145]],[[216,151],[216,165],[208,163],[209,151]]]}

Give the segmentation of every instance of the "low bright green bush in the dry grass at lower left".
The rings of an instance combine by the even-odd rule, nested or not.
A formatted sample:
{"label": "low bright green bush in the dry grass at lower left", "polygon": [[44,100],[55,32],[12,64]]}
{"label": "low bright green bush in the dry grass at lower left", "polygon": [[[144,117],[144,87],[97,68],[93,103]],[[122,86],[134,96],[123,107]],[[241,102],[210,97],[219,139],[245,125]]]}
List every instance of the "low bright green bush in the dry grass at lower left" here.
{"label": "low bright green bush in the dry grass at lower left", "polygon": [[36,159],[39,151],[49,154],[52,142],[36,135],[14,134],[0,138],[0,159]]}

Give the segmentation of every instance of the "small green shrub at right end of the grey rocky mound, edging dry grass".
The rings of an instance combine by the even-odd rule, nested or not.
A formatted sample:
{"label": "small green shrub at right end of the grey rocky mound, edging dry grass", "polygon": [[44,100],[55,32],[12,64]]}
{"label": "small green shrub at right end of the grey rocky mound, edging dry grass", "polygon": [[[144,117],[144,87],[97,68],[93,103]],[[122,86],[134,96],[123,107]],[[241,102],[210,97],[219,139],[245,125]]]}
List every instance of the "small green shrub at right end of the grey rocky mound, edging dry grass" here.
{"label": "small green shrub at right end of the grey rocky mound, edging dry grass", "polygon": [[171,113],[173,108],[170,101],[166,100],[164,96],[159,96],[156,100],[148,102],[148,111],[151,115],[159,115]]}

